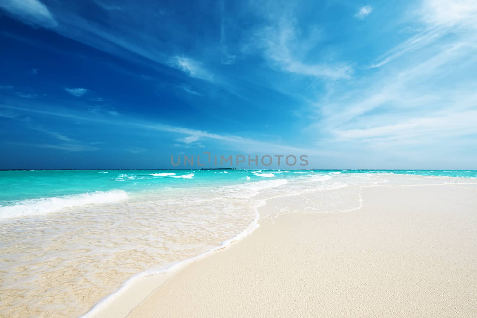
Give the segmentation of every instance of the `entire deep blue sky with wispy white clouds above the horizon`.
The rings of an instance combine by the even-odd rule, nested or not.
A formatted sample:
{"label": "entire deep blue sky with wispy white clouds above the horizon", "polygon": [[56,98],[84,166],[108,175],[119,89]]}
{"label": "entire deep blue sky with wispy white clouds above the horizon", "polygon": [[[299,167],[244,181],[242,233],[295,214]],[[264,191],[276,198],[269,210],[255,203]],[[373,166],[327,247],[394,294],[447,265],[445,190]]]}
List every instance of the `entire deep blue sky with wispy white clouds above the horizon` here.
{"label": "entire deep blue sky with wispy white clouds above the horizon", "polygon": [[1,0],[0,169],[477,169],[476,38],[476,0]]}

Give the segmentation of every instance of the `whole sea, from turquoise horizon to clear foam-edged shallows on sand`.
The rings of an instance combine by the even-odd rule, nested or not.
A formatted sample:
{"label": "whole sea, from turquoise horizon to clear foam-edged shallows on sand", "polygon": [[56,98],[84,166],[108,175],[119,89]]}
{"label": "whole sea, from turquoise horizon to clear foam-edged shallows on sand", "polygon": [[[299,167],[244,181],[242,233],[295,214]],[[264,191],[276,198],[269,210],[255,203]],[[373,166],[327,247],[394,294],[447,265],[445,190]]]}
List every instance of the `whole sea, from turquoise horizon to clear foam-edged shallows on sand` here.
{"label": "whole sea, from turquoise horizon to clear foam-edged shallows on sand", "polygon": [[477,170],[0,171],[0,316],[84,315],[139,277],[248,235],[267,199],[393,174],[477,178]]}

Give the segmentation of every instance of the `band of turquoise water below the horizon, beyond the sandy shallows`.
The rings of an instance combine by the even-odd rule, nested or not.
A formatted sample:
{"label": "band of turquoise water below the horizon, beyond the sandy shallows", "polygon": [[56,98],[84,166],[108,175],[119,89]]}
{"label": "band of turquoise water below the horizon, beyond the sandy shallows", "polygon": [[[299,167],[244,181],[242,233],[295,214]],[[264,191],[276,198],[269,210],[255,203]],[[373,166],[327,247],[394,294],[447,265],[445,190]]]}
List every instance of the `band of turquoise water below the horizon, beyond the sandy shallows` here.
{"label": "band of turquoise water below the horizon, beyond the sandy shallows", "polygon": [[[264,177],[253,174],[274,174]],[[306,174],[393,173],[476,178],[477,170],[34,170],[0,171],[0,206],[44,197],[121,189],[127,193],[161,188],[218,187],[264,178]],[[173,174],[173,175],[153,175]],[[194,174],[194,175],[192,175]],[[182,178],[181,176],[186,176]],[[250,179],[247,179],[249,177]]]}

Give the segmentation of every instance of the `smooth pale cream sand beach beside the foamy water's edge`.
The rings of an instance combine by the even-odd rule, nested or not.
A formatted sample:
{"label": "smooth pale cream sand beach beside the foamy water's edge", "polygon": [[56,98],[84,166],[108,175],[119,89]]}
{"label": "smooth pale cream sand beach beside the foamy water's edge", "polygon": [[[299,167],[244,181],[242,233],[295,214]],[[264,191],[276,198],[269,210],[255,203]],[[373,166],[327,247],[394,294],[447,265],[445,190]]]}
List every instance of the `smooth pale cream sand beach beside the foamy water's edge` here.
{"label": "smooth pale cream sand beach beside the foamy water's edge", "polygon": [[129,317],[476,317],[476,189],[367,187],[341,213],[278,215],[310,198],[269,200],[255,232]]}

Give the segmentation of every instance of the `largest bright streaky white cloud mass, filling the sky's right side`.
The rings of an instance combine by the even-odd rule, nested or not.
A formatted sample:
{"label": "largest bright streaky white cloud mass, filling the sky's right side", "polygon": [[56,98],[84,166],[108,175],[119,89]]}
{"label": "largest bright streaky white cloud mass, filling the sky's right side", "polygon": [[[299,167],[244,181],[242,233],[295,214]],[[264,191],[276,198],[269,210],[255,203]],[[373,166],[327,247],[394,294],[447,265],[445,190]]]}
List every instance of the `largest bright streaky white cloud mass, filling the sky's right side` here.
{"label": "largest bright streaky white cloud mass, filling the sky's right side", "polygon": [[405,162],[412,150],[425,158],[427,151],[445,152],[477,134],[477,82],[471,75],[477,71],[477,37],[474,17],[467,15],[474,9],[460,11],[463,3],[424,1],[419,21],[425,31],[390,50],[353,89],[319,101],[320,119],[312,127],[327,136],[327,147],[385,151]]}

